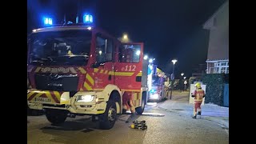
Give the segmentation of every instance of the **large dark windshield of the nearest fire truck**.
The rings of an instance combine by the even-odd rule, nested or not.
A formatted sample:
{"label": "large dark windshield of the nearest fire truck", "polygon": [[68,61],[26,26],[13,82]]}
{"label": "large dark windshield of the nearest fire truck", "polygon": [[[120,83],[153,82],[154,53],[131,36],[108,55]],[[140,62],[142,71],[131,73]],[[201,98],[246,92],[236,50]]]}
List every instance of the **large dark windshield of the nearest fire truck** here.
{"label": "large dark windshield of the nearest fire truck", "polygon": [[90,30],[60,30],[30,35],[29,63],[40,66],[85,66],[90,54]]}

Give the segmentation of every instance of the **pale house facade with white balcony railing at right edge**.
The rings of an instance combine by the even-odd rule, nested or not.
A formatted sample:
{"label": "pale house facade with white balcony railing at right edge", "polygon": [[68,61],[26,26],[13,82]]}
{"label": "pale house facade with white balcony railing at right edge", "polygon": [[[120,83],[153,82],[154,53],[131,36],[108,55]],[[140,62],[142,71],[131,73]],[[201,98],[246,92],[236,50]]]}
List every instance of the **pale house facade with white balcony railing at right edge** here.
{"label": "pale house facade with white balcony railing at right edge", "polygon": [[229,74],[229,1],[203,25],[210,30],[206,74]]}

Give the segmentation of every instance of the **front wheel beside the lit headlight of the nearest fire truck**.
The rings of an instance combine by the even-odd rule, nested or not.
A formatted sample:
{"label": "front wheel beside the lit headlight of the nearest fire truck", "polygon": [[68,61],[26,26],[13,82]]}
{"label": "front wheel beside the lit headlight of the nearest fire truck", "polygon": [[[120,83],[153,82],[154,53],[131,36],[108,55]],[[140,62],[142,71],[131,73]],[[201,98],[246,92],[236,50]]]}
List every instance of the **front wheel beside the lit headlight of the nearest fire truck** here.
{"label": "front wheel beside the lit headlight of the nearest fire truck", "polygon": [[114,126],[117,116],[117,108],[113,100],[109,100],[106,105],[106,111],[100,115],[99,126],[103,130],[109,130]]}

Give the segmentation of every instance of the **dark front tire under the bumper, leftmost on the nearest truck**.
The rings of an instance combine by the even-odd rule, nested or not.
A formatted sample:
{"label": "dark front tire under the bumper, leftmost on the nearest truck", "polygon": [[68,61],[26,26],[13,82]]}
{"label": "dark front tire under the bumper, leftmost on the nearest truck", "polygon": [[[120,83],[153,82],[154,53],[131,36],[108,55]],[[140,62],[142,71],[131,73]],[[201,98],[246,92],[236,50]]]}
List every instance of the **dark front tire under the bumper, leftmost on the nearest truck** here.
{"label": "dark front tire under the bumper, leftmost on the nearest truck", "polygon": [[46,110],[46,118],[52,124],[60,124],[66,121],[68,112],[66,110]]}

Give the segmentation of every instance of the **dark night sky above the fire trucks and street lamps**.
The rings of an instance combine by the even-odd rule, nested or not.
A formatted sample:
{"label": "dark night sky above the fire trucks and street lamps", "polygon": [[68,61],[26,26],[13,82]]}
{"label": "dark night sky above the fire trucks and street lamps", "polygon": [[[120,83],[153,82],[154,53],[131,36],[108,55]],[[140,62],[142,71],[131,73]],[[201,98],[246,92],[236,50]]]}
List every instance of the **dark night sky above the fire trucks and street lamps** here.
{"label": "dark night sky above the fire trucks and street lamps", "polygon": [[[79,2],[79,4],[78,4]],[[209,31],[202,25],[226,0],[27,0],[27,31],[39,26],[42,15],[54,22],[75,22],[80,6],[94,15],[96,26],[116,38],[123,33],[133,42],[144,42],[144,54],[171,74],[171,60],[177,58],[175,74],[190,77],[194,67],[206,64]]]}

